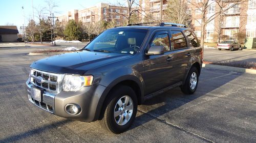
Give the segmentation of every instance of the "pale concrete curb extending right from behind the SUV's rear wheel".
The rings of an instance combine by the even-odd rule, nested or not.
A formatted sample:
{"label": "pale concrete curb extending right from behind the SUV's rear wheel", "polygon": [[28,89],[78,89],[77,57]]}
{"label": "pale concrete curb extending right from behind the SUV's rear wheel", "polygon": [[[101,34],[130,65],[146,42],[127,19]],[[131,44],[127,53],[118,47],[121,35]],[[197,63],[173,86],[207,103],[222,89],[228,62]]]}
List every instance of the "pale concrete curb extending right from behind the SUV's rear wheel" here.
{"label": "pale concrete curb extending right from behind the SUV's rear wheel", "polygon": [[221,65],[211,65],[211,64],[203,64],[202,67],[218,69],[218,70],[233,71],[233,72],[256,74],[256,70],[253,70],[253,69],[245,69],[245,68],[237,68],[237,67],[229,67],[229,66],[221,66]]}

